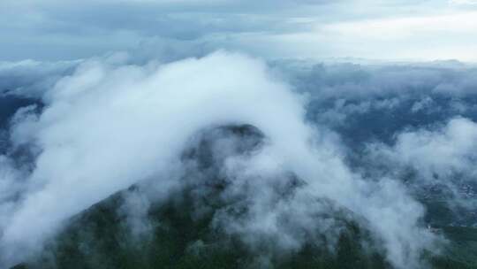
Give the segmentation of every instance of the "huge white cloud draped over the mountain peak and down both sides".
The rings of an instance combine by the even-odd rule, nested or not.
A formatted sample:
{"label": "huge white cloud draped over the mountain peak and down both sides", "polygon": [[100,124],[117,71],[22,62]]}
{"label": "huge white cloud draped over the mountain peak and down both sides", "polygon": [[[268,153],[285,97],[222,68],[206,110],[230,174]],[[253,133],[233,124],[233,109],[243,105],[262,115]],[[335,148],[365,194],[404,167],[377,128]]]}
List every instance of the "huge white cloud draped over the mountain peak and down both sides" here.
{"label": "huge white cloud draped over the mountain peak and down both sides", "polygon": [[[42,102],[39,115],[24,110],[11,127],[14,147],[34,150],[36,158],[19,199],[0,204],[4,265],[39,250],[65,219],[135,182],[148,182],[156,196],[180,188],[181,155],[191,137],[229,124],[253,125],[267,139],[250,158],[225,158],[223,168],[234,179],[227,195],[251,203],[249,218],[232,222],[228,231],[244,234],[251,246],[252,234],[280,234],[277,246],[290,250],[303,243],[294,237],[297,229],[332,231],[314,223],[317,211],[330,210],[319,203],[310,209],[314,199],[356,215],[398,268],[420,266],[421,251],[434,246],[435,235],[420,227],[423,208],[405,187],[352,173],[337,135],[307,124],[304,96],[260,60],[223,51],[169,64],[93,58],[59,79]],[[11,157],[5,158],[8,164]],[[290,173],[306,187],[290,201],[276,202]],[[15,191],[7,189],[6,197]],[[141,201],[136,198],[130,205]],[[284,227],[283,218],[295,220]]]}

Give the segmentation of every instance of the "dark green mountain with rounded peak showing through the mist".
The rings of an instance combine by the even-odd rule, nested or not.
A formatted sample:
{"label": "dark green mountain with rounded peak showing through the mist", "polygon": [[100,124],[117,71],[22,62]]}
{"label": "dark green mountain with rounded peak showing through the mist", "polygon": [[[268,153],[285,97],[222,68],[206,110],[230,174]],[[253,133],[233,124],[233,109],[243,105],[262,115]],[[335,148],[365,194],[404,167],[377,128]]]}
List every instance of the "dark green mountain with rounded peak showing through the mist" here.
{"label": "dark green mountain with rounded peak showing through the mist", "polygon": [[[217,226],[220,212],[233,211],[233,218],[240,221],[247,211],[243,197],[223,198],[231,179],[220,173],[225,156],[217,156],[214,150],[223,146],[223,137],[235,141],[227,151],[230,156],[250,154],[265,142],[253,126],[205,130],[181,157],[193,167],[181,178],[183,188],[137,207],[145,209],[145,215],[135,223],[142,227],[136,229],[138,233],[133,233],[124,205],[130,197],[141,196],[150,182],[138,183],[72,217],[40,255],[13,268],[390,268],[382,250],[366,247],[375,243],[369,231],[346,218],[352,212],[337,209],[332,201],[320,203],[329,206],[329,218],[345,227],[332,250],[313,238],[293,251],[275,250],[270,246],[273,240],[261,240],[251,248],[240,235],[228,234]],[[289,175],[288,185],[279,192],[281,198],[292,196],[302,184],[295,175]],[[431,214],[430,219],[440,217],[438,210]],[[432,268],[477,268],[477,228],[430,228],[450,240],[440,256],[424,255]]]}

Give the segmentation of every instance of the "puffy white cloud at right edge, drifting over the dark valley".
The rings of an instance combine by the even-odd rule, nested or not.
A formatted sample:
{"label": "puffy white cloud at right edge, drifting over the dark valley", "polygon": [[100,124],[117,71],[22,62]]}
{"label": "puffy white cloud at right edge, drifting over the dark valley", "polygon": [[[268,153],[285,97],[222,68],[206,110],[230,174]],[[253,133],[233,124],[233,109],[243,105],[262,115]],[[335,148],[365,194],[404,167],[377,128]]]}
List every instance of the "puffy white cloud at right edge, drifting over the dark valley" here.
{"label": "puffy white cloud at right edge, drifting over the dark valley", "polygon": [[[454,118],[444,126],[420,127],[396,136],[392,146],[371,144],[370,150],[379,164],[393,164],[394,173],[413,169],[417,188],[441,185],[458,200],[466,182],[473,182],[477,124],[471,119]],[[381,161],[378,161],[381,159]],[[400,167],[400,168],[396,168]],[[451,201],[452,199],[450,199]]]}

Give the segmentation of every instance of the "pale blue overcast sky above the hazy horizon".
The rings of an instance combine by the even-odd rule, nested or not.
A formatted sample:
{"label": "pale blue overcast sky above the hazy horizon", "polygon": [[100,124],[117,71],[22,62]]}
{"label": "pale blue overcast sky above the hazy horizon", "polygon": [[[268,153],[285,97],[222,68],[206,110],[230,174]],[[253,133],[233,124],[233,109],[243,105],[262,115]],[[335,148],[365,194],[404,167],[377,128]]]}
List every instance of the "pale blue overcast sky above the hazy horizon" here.
{"label": "pale blue overcast sky above the hazy horizon", "polygon": [[0,39],[0,60],[227,49],[263,58],[476,61],[477,3],[2,0]]}

